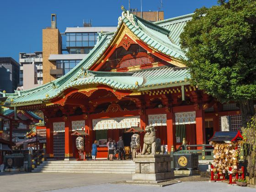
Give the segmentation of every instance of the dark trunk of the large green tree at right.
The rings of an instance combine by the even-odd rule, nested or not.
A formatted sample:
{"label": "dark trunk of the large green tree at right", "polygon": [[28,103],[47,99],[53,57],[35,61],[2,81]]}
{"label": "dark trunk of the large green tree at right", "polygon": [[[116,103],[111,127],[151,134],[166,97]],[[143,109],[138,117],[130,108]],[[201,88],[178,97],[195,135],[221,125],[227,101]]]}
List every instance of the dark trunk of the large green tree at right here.
{"label": "dark trunk of the large green tree at right", "polygon": [[251,117],[255,115],[254,104],[252,100],[239,101],[242,117],[242,127],[246,128]]}

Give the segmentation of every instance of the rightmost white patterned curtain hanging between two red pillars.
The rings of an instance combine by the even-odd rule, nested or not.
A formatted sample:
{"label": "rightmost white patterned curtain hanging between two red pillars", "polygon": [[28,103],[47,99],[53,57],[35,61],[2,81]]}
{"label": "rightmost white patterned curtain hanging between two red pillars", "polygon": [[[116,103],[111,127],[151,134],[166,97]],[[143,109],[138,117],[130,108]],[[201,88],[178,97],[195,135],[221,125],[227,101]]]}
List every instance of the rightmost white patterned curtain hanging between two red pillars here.
{"label": "rightmost white patterned curtain hanging between two red pillars", "polygon": [[176,112],[175,113],[175,124],[195,124],[196,123],[196,112]]}

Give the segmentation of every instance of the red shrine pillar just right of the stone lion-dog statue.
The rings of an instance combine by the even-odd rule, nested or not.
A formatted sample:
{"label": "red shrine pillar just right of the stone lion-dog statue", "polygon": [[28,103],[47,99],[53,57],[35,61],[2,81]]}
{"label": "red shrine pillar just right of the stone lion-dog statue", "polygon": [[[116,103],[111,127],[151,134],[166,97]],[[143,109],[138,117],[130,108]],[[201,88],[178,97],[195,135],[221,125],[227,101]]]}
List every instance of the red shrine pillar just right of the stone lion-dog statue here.
{"label": "red shrine pillar just right of the stone lion-dog statue", "polygon": [[168,112],[166,114],[166,126],[168,153],[170,153],[172,145],[174,146],[174,148],[176,148],[176,128],[174,113]]}

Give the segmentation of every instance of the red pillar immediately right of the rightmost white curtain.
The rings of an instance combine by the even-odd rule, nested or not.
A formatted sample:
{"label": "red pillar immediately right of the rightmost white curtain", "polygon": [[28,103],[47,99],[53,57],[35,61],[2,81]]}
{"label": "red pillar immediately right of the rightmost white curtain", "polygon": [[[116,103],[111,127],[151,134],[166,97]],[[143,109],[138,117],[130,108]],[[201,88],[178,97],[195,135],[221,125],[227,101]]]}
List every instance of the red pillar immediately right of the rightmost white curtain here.
{"label": "red pillar immediately right of the rightmost white curtain", "polygon": [[200,105],[200,109],[196,110],[196,135],[197,144],[205,144],[205,122],[202,105]]}

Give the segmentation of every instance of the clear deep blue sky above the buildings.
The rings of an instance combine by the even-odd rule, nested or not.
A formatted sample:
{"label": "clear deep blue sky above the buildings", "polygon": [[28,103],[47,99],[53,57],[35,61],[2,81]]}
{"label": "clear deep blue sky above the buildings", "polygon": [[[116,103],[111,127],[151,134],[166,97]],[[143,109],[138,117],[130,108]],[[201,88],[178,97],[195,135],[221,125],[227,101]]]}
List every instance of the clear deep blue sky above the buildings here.
{"label": "clear deep blue sky above the buildings", "polygon": [[[165,19],[192,13],[217,0],[163,0]],[[160,0],[142,0],[143,11],[157,11]],[[51,25],[51,13],[57,14],[57,27],[82,26],[83,19],[93,26],[116,26],[121,5],[128,0],[2,0],[0,3],[0,57],[18,61],[20,52],[42,51],[42,29]],[[140,10],[140,0],[130,0],[130,8]]]}

